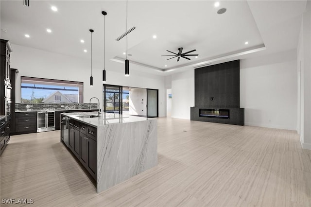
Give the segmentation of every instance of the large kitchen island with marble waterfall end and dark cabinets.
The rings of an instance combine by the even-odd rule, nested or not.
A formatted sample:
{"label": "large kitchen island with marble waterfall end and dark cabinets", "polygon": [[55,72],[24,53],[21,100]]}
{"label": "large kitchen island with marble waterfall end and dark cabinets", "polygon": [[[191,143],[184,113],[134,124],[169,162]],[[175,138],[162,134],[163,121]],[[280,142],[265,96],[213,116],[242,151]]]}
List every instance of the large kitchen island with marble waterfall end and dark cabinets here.
{"label": "large kitchen island with marble waterfall end and dark cabinets", "polygon": [[[157,165],[156,119],[113,113],[96,115],[61,114],[69,120],[68,147],[95,179],[97,192]],[[61,130],[64,137],[62,133],[66,130]]]}

